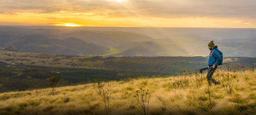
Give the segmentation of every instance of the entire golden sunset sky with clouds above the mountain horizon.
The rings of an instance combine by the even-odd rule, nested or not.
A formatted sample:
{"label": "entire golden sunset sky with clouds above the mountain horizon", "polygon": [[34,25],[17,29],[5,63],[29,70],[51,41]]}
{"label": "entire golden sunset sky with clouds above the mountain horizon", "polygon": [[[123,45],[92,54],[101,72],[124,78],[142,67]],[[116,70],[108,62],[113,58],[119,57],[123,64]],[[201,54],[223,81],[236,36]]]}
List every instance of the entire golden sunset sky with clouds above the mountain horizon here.
{"label": "entire golden sunset sky with clouds above the mountain horizon", "polygon": [[0,25],[256,28],[256,0],[0,0]]}

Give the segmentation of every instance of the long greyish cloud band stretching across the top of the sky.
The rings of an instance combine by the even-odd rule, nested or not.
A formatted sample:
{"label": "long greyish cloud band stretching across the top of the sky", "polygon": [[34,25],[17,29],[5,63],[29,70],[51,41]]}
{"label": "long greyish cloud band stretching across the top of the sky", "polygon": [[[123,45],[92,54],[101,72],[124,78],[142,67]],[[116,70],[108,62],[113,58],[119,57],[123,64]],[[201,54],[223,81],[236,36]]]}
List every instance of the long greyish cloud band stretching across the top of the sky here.
{"label": "long greyish cloud band stretching across the top of the sky", "polygon": [[2,0],[1,12],[59,13],[108,17],[256,18],[255,0]]}

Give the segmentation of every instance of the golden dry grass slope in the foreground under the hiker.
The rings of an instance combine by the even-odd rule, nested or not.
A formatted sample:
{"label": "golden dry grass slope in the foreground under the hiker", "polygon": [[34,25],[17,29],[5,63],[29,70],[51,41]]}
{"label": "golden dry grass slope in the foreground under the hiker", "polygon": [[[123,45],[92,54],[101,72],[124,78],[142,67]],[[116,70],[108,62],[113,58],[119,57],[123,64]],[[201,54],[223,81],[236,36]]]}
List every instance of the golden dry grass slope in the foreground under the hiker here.
{"label": "golden dry grass slope in the foreground under the hiker", "polygon": [[[109,90],[107,112],[97,83],[55,88],[55,95],[52,88],[6,92],[0,115],[256,115],[256,71],[217,69],[213,76],[221,85],[208,88],[206,73],[101,82]],[[150,96],[146,113],[136,99],[140,88]]]}

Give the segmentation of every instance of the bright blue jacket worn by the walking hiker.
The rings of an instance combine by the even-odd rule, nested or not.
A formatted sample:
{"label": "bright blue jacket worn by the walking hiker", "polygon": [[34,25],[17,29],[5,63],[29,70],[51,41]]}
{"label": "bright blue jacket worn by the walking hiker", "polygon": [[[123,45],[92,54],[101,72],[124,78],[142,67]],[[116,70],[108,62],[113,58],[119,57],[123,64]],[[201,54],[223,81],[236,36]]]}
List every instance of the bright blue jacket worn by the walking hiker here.
{"label": "bright blue jacket worn by the walking hiker", "polygon": [[[208,66],[213,66],[213,64],[215,65],[215,66],[218,66],[219,65],[219,62],[221,62],[221,57],[220,57],[220,55],[219,55],[219,49],[218,48],[213,48],[211,51],[210,51],[210,54],[209,54],[209,58],[208,58]],[[213,52],[212,53],[212,56],[214,57],[214,59],[212,58],[212,56],[211,56],[211,52]]]}

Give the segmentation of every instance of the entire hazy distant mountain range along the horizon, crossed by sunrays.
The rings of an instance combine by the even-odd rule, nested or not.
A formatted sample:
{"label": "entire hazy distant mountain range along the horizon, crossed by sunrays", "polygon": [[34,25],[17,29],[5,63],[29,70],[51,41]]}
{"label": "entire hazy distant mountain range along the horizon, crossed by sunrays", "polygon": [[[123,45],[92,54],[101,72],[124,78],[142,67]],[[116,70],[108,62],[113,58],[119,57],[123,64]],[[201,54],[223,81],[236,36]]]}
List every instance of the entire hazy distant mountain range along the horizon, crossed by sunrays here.
{"label": "entire hazy distant mountain range along the horizon, crossed by sunrays", "polygon": [[224,57],[256,57],[256,28],[0,26],[0,46],[31,53],[208,56],[211,40]]}

